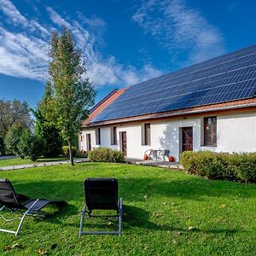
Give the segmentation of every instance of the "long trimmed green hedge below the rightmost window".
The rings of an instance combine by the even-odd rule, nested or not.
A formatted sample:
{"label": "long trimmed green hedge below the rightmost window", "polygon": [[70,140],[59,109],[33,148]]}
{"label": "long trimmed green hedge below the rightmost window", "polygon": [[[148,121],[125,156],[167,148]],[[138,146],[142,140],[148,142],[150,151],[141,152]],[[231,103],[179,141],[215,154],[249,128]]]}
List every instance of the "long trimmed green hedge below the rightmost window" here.
{"label": "long trimmed green hedge below the rightmost window", "polygon": [[181,164],[186,172],[211,179],[256,182],[256,154],[223,154],[185,151]]}

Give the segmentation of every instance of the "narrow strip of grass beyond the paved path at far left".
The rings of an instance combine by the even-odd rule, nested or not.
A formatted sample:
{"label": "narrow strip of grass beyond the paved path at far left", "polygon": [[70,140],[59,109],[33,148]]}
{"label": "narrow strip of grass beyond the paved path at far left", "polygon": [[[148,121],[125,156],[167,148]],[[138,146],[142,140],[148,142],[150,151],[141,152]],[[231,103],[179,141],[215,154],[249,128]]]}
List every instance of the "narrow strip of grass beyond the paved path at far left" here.
{"label": "narrow strip of grass beyond the paved path at far left", "polygon": [[18,158],[14,158],[14,159],[6,159],[6,160],[0,160],[0,167],[3,166],[20,166],[20,165],[27,165],[27,164],[36,164],[36,163],[44,163],[47,161],[58,161],[58,160],[68,160],[69,158],[66,156],[59,156],[59,157],[55,157],[55,158],[39,158],[36,161],[32,161],[29,159],[20,159],[20,157]]}

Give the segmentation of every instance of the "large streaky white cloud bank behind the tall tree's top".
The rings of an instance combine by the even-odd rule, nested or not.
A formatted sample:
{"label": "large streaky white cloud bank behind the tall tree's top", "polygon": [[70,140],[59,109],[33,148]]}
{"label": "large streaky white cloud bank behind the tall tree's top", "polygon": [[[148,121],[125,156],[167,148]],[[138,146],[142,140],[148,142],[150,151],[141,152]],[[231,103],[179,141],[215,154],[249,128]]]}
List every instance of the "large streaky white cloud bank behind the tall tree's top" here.
{"label": "large streaky white cloud bank behind the tall tree's top", "polygon": [[[141,70],[125,67],[110,55],[102,57],[95,51],[98,29],[106,23],[96,17],[88,19],[79,14],[79,20],[68,20],[59,15],[55,9],[46,8],[52,26],[39,24],[35,19],[27,19],[20,14],[15,5],[8,0],[0,0],[0,11],[7,16],[8,22],[19,29],[6,29],[0,23],[0,73],[27,79],[45,81],[47,73],[49,37],[52,29],[60,30],[67,26],[73,32],[74,39],[82,49],[87,64],[87,75],[96,86],[106,84],[130,85],[160,74],[160,71],[145,64]],[[89,29],[90,26],[90,29]],[[93,33],[93,29],[96,30]],[[92,32],[91,32],[92,31]]]}

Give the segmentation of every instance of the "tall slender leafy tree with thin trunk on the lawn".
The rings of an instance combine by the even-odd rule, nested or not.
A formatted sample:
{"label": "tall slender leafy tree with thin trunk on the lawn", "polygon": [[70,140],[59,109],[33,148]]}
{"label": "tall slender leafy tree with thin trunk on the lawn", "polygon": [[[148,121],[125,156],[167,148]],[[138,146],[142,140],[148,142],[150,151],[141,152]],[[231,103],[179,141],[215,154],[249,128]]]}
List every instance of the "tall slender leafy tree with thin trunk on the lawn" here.
{"label": "tall slender leafy tree with thin trunk on the lawn", "polygon": [[[64,140],[71,148],[71,138],[87,118],[94,103],[95,90],[89,79],[84,79],[86,69],[81,50],[76,49],[73,34],[63,27],[61,35],[52,33],[49,51],[49,76],[53,82],[55,121]],[[71,150],[72,152],[72,150]],[[73,156],[70,154],[73,165]]]}

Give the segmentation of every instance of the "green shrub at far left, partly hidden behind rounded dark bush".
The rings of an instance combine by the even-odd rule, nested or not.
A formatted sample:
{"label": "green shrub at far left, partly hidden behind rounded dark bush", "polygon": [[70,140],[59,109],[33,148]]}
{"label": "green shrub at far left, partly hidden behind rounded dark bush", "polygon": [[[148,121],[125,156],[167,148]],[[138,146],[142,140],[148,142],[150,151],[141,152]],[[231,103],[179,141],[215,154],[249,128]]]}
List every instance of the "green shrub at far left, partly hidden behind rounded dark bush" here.
{"label": "green shrub at far left, partly hidden behind rounded dark bush", "polygon": [[20,149],[18,147],[20,143],[20,137],[22,133],[25,131],[21,125],[12,125],[7,132],[4,142],[9,154],[16,154],[23,157],[23,154],[20,153]]}

